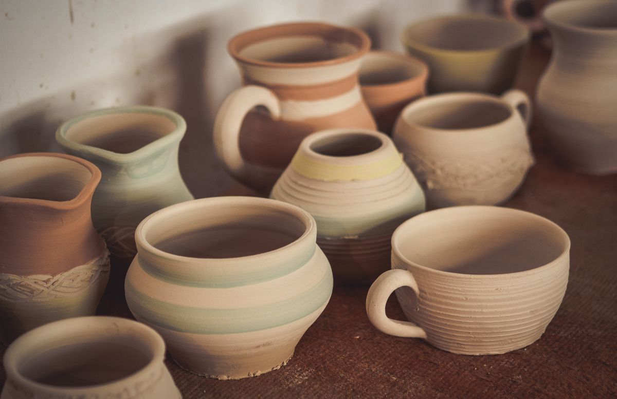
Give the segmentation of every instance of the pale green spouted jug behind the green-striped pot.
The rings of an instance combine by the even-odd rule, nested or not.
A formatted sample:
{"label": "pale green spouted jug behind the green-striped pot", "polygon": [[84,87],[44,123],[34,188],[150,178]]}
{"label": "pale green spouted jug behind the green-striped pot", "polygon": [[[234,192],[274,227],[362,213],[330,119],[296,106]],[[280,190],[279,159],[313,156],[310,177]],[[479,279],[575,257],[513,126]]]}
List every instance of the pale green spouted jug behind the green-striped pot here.
{"label": "pale green spouted jug behind the green-striped pot", "polygon": [[193,199],[178,168],[185,131],[184,119],[173,111],[118,107],[70,119],[56,132],[67,153],[101,169],[92,217],[112,255],[135,256],[135,227],[144,217]]}

